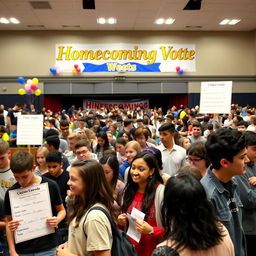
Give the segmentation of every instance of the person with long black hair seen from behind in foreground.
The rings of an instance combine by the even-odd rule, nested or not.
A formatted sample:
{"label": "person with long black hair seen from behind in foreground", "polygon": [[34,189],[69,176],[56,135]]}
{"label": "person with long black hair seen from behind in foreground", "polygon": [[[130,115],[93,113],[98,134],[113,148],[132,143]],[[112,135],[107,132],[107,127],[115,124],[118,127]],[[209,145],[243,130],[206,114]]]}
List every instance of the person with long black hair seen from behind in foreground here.
{"label": "person with long black hair seen from behind in foreground", "polygon": [[179,172],[168,180],[161,216],[167,230],[152,256],[234,256],[227,229],[192,175]]}

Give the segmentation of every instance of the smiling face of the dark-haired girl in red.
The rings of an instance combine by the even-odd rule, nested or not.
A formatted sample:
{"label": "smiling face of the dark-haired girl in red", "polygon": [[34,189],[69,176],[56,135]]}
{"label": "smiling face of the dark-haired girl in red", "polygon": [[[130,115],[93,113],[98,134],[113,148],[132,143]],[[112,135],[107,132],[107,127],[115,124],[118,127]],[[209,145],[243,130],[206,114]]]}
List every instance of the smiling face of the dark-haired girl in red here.
{"label": "smiling face of the dark-haired girl in red", "polygon": [[148,164],[143,158],[135,159],[132,163],[130,175],[133,182],[139,185],[147,184],[148,178],[154,173],[154,170],[149,169]]}

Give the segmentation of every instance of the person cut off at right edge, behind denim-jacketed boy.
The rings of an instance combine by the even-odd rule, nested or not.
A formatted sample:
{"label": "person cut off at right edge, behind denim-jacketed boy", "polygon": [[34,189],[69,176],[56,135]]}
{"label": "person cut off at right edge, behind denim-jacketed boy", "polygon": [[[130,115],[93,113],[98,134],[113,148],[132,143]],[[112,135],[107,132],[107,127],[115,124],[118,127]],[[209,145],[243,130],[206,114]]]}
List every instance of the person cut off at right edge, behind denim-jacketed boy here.
{"label": "person cut off at right edge, behind denim-jacketed boy", "polygon": [[243,203],[242,224],[246,237],[247,255],[254,256],[256,252],[256,133],[247,131],[244,136],[250,162],[246,167],[246,174],[235,178]]}

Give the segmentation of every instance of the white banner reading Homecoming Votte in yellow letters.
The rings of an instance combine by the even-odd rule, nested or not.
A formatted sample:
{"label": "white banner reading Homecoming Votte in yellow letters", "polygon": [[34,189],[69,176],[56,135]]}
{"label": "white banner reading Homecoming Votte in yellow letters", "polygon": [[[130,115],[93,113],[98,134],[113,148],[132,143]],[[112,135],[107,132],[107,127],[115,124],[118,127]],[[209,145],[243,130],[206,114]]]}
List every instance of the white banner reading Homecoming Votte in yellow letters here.
{"label": "white banner reading Homecoming Votte in yellow letters", "polygon": [[70,72],[195,72],[194,44],[57,44],[56,66]]}

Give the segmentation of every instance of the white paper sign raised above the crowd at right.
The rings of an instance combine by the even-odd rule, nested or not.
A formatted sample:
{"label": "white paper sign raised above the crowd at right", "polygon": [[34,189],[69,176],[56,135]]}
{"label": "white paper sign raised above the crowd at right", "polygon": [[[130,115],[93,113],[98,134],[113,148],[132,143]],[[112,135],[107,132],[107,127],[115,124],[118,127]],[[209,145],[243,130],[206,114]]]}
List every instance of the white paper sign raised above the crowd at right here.
{"label": "white paper sign raised above the crowd at right", "polygon": [[210,114],[229,113],[232,96],[232,81],[202,82],[200,112]]}

